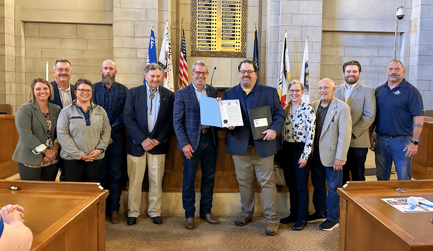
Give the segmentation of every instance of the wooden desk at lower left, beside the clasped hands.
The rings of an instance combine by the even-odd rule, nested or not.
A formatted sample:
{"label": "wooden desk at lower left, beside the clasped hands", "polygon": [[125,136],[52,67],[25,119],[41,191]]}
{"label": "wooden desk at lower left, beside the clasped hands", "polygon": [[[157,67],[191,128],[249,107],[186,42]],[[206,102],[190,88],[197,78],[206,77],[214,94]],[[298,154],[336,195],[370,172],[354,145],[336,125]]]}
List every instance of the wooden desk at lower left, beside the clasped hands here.
{"label": "wooden desk at lower left, beside the clasped hands", "polygon": [[31,251],[105,250],[108,190],[97,183],[0,180],[0,187],[1,206],[19,204],[25,210]]}

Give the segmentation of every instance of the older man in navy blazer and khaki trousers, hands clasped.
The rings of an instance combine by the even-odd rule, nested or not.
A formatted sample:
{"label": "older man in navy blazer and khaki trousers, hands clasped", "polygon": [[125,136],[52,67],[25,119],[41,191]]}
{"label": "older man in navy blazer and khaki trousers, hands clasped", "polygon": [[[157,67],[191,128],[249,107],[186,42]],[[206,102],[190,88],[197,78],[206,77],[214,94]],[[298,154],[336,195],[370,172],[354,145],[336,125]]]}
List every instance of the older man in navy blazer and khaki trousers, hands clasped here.
{"label": "older man in navy blazer and khaki trousers, hands clasped", "polygon": [[128,90],[123,110],[123,121],[128,129],[128,225],[136,224],[140,215],[146,164],[149,168],[148,213],[153,223],[162,223],[162,176],[168,139],[173,132],[174,103],[174,93],[160,86],[163,73],[158,64],[148,64],[144,70],[146,84]]}

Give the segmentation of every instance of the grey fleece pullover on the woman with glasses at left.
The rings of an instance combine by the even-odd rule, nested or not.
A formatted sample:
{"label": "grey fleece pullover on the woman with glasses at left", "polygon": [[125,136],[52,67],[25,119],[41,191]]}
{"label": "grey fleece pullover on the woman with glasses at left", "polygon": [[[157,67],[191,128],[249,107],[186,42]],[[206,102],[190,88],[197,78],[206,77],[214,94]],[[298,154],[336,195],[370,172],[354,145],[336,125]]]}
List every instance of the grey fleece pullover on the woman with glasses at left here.
{"label": "grey fleece pullover on the woman with glasses at left", "polygon": [[[83,153],[90,154],[95,149],[107,150],[111,126],[107,112],[90,100],[91,108],[87,116],[74,100],[61,109],[57,119],[57,139],[61,145],[60,157],[66,160],[79,160]],[[99,154],[95,160],[102,159]]]}

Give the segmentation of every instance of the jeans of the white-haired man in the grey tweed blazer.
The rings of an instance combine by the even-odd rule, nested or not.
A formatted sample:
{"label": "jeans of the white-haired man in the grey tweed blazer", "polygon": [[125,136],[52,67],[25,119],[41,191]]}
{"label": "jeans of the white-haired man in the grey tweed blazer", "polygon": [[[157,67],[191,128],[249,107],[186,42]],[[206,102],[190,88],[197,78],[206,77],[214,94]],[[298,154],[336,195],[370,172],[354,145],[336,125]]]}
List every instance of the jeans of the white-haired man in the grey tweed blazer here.
{"label": "jeans of the white-haired man in the grey tweed blazer", "polygon": [[[325,153],[326,154],[326,153]],[[329,190],[326,196],[325,180]],[[326,219],[338,222],[340,218],[340,196],[337,188],[342,187],[343,170],[335,171],[333,167],[325,167],[320,161],[320,152],[317,145],[314,148],[311,164],[311,183],[313,184],[313,205],[318,215],[323,215],[328,209]]]}

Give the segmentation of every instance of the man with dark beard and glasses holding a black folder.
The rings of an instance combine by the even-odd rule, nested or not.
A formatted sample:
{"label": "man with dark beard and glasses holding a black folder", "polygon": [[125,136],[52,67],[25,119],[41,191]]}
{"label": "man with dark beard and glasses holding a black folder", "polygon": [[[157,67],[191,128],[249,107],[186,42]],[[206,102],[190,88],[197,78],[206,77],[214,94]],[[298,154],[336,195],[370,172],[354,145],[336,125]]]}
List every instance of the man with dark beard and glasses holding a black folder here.
{"label": "man with dark beard and glasses holding a black folder", "polygon": [[[262,188],[263,212],[268,220],[265,230],[267,235],[275,235],[278,231],[279,215],[277,208],[277,189],[272,175],[274,171],[274,155],[279,147],[278,135],[285,122],[283,106],[274,87],[256,82],[257,67],[249,60],[239,63],[239,84],[224,91],[223,100],[239,100],[243,126],[227,127],[227,152],[233,154],[236,179],[241,196],[241,215],[235,224],[243,226],[251,221],[254,214],[254,175]],[[262,132],[263,139],[254,140],[248,116],[248,108],[268,105],[271,108],[272,123],[268,130]]]}

